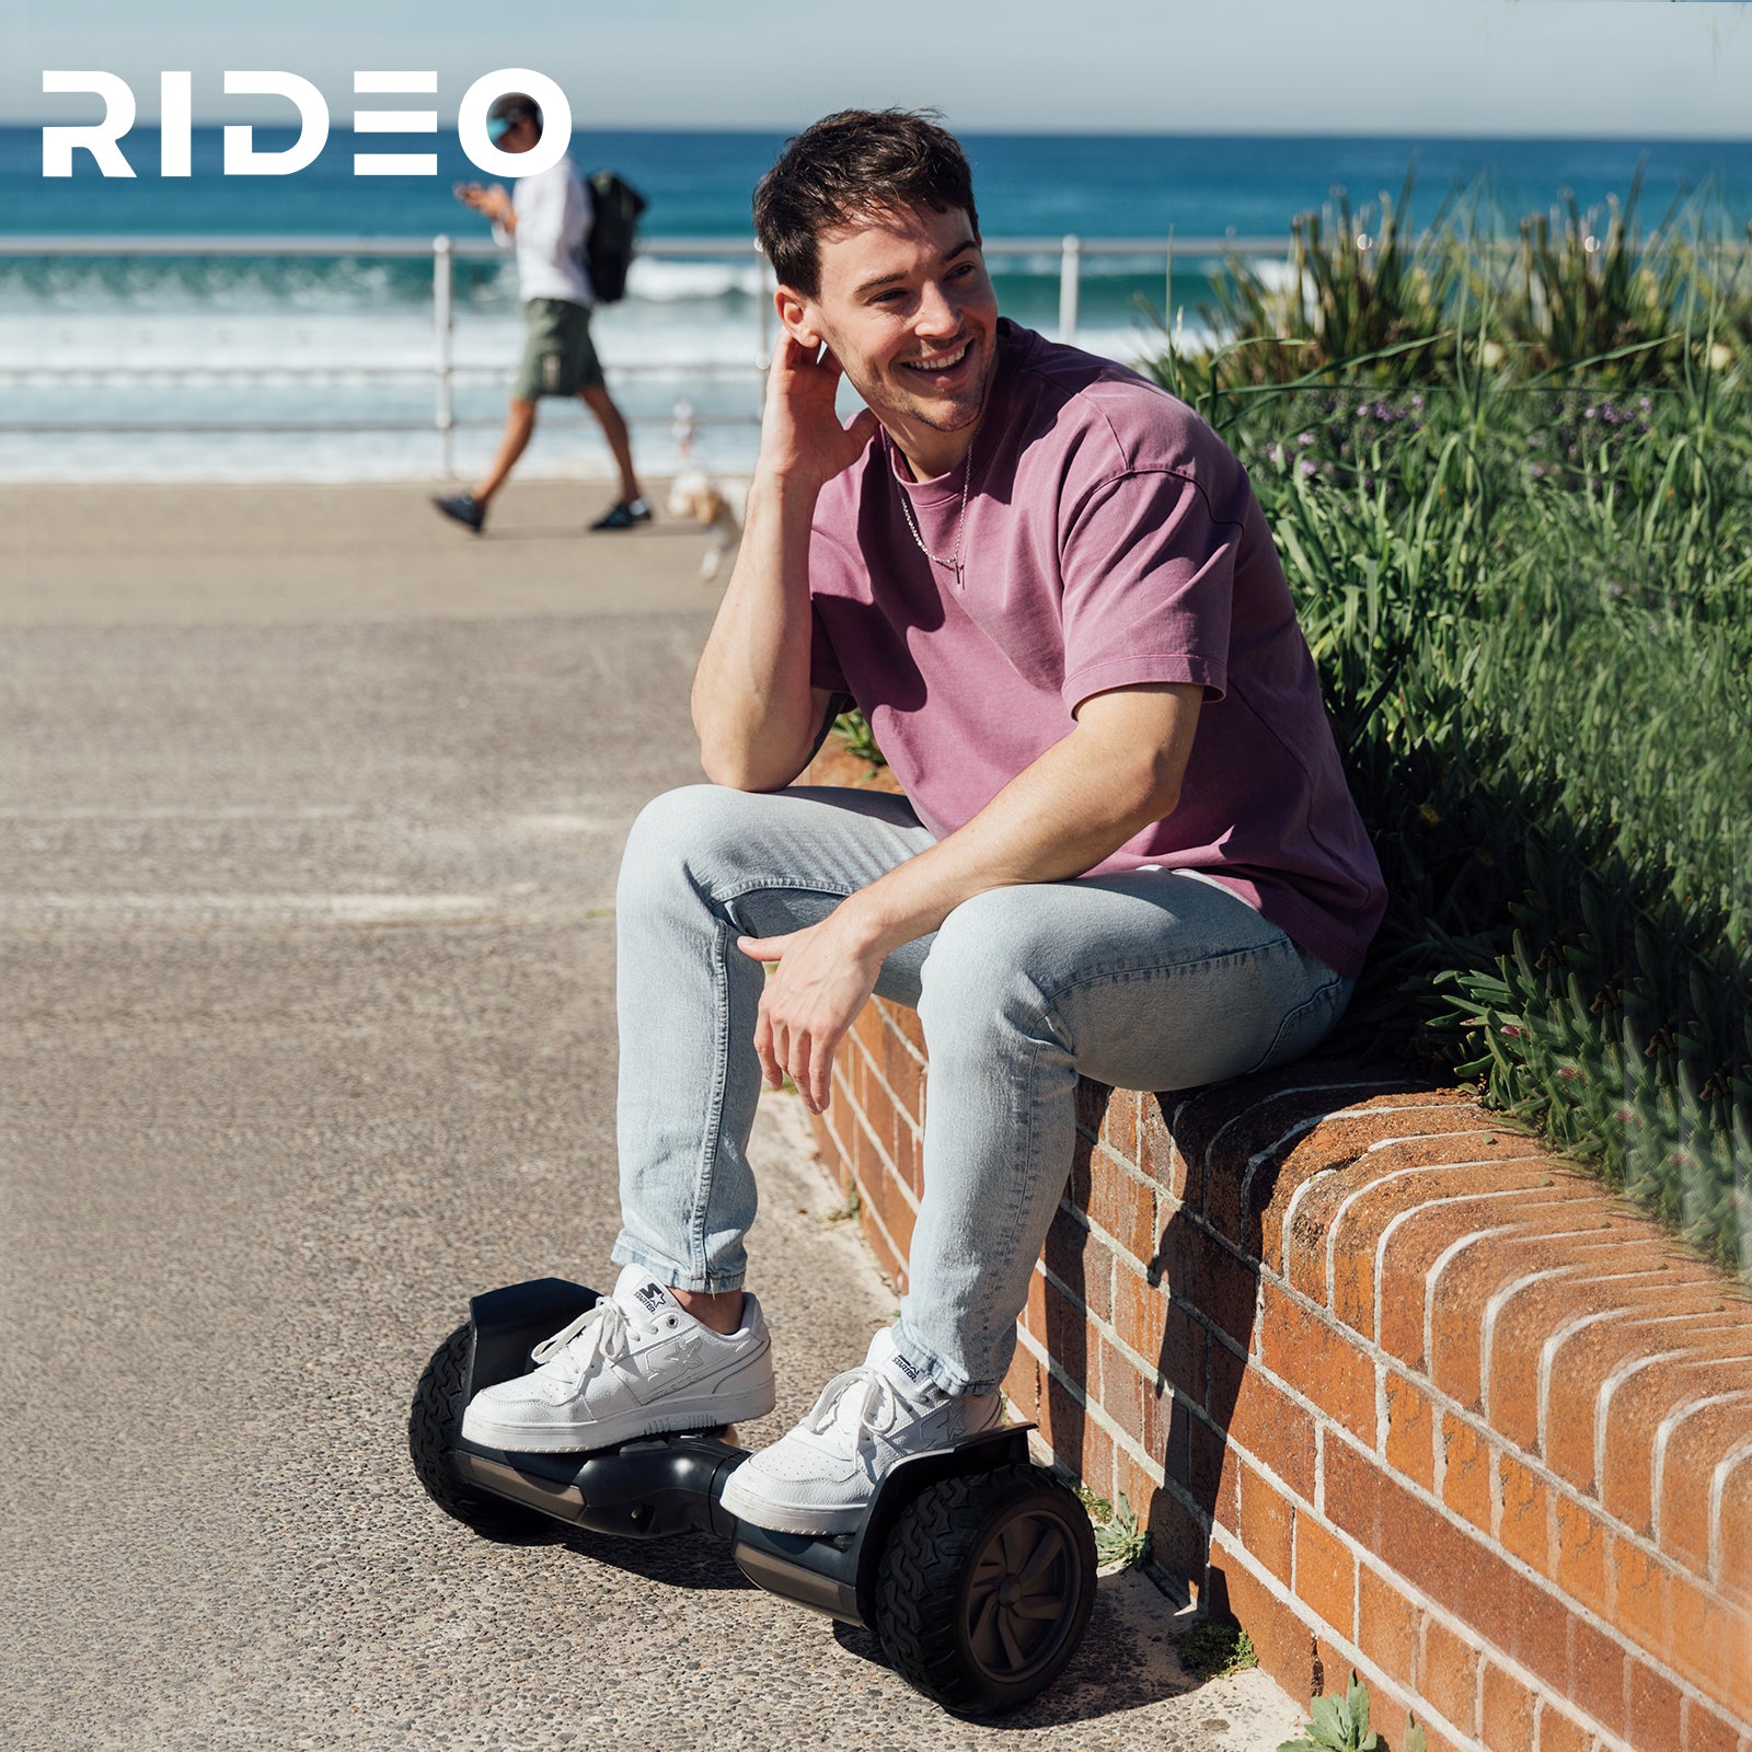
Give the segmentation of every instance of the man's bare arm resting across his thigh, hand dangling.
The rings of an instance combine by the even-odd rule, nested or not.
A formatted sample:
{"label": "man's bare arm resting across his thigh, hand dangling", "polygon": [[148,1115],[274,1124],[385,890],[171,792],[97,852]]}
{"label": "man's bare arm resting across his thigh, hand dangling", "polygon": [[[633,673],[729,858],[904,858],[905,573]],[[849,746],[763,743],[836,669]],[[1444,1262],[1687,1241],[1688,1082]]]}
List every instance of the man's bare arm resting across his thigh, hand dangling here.
{"label": "man's bare arm resting across his thigh, hand dangling", "polygon": [[780,964],[755,1027],[767,1083],[788,1074],[820,1113],[834,1049],[892,950],[988,888],[1081,876],[1172,815],[1202,699],[1195,683],[1095,694],[1069,736],[929,851],[850,895],[820,925],[739,939],[745,955]]}

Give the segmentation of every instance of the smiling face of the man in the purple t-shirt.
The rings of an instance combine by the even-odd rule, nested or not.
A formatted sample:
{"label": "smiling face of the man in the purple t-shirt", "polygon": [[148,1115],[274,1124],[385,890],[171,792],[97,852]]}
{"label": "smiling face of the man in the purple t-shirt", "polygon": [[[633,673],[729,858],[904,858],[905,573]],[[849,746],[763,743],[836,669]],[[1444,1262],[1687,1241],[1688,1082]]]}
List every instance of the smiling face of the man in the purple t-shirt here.
{"label": "smiling face of the man in the purple t-shirt", "polygon": [[997,294],[967,214],[876,212],[825,233],[820,259],[820,293],[787,328],[827,342],[902,447],[908,427],[971,427],[997,364]]}

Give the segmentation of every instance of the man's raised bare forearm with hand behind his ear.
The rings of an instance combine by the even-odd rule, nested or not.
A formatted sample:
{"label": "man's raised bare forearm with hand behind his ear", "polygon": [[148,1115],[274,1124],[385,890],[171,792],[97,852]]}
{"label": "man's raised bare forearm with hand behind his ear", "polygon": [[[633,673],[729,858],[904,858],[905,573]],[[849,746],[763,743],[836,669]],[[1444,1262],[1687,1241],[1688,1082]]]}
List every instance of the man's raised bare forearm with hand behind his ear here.
{"label": "man's raised bare forearm with hand behind his ear", "polygon": [[804,767],[829,694],[809,685],[809,527],[822,487],[876,433],[834,413],[839,364],[780,335],[736,569],[694,673],[694,729],[715,785],[778,790]]}

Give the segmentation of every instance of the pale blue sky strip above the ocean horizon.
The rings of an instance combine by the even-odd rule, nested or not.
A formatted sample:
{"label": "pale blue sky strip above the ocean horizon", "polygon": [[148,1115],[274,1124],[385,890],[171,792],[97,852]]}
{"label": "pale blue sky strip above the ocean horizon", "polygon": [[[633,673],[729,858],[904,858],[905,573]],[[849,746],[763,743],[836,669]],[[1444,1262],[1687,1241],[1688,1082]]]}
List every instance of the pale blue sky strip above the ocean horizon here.
{"label": "pale blue sky strip above the ocean horizon", "polygon": [[[578,126],[787,128],[932,103],[969,130],[1752,138],[1752,5],[1671,0],[7,0],[0,121],[93,121],[44,68],[194,74],[196,121],[291,121],[224,68],[466,84],[533,67]],[[370,105],[371,100],[361,100]]]}

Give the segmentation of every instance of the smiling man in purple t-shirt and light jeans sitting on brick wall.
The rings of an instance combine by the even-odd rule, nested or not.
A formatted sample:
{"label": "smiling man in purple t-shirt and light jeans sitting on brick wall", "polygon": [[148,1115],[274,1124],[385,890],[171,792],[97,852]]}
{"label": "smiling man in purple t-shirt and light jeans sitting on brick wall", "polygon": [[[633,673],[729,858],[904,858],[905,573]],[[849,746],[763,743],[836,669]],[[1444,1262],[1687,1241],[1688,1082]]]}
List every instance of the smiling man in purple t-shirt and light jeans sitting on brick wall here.
{"label": "smiling man in purple t-shirt and light jeans sitting on brick wall", "polygon": [[[1163,391],[999,319],[955,140],[829,116],[755,224],[783,340],[694,682],[715,783],[650,804],[622,865],[625,1270],[464,1433],[585,1449],[771,1407],[741,1289],[759,1079],[825,1107],[874,990],[930,1049],[909,1289],[724,1496],[836,1533],[897,1458],[999,1417],[1079,1072],[1174,1090],[1307,1051],[1384,895],[1246,471]],[[843,696],[904,801],[787,788]]]}

